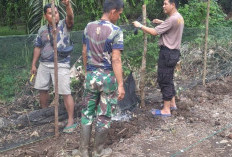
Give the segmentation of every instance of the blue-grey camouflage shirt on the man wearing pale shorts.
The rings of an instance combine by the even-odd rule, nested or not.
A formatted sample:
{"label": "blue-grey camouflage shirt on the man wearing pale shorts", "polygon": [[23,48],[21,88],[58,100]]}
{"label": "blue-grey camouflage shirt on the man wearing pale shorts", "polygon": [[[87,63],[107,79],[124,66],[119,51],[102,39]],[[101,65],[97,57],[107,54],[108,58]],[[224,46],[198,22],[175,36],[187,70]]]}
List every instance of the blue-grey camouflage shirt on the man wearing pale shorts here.
{"label": "blue-grey camouflage shirt on the man wearing pale shorts", "polygon": [[[41,49],[40,62],[54,62],[54,50],[51,46],[48,27],[52,33],[52,26],[44,25],[39,29],[34,41],[34,47]],[[64,48],[68,45],[70,45],[70,30],[68,30],[65,20],[60,20],[57,25],[57,48]],[[66,58],[58,57],[58,63],[69,64],[70,55]]]}

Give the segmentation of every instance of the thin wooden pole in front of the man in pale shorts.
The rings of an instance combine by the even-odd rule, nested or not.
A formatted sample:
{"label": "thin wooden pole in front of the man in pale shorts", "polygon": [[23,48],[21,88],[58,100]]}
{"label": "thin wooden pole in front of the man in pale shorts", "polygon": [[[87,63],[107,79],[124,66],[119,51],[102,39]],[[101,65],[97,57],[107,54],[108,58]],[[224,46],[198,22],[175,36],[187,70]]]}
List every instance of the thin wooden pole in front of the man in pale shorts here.
{"label": "thin wooden pole in front of the man in pale shorts", "polygon": [[54,0],[51,0],[52,3],[52,35],[53,35],[53,49],[54,49],[54,78],[55,78],[55,137],[59,136],[59,126],[58,126],[58,103],[59,103],[59,94],[58,94],[58,59],[57,59],[57,30],[55,22],[55,3]]}

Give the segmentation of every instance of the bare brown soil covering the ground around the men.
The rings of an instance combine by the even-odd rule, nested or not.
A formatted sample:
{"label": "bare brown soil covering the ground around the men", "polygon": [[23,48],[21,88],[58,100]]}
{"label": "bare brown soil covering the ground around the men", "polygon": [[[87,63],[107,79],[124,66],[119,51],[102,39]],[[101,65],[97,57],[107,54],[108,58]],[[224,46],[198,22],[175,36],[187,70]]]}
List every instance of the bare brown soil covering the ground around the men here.
{"label": "bare brown soil covering the ground around the men", "polygon": [[[182,91],[178,110],[168,118],[153,117],[152,108],[162,104],[158,89],[146,89],[146,107],[137,108],[129,121],[114,121],[107,146],[112,157],[231,157],[232,156],[232,77],[215,80]],[[0,115],[8,111],[1,109]],[[80,124],[80,118],[76,118]],[[60,123],[60,129],[65,122]],[[4,130],[0,148],[14,142],[20,146],[0,154],[1,157],[72,157],[79,148],[80,125],[71,134],[51,137],[53,124],[24,129]],[[94,133],[93,133],[94,134]],[[94,136],[94,135],[93,135]],[[47,138],[45,138],[47,137]],[[41,140],[41,138],[45,138]],[[93,143],[93,139],[91,140]],[[91,146],[92,147],[92,146]]]}

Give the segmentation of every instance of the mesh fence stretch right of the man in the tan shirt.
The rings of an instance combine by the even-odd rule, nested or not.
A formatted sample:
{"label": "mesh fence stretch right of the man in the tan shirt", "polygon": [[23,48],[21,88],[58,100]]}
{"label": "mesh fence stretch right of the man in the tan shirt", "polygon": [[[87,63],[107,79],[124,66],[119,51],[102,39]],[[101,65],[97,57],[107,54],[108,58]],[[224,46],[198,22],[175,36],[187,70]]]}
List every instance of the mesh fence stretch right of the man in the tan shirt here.
{"label": "mesh fence stretch right of the man in the tan shirt", "polygon": [[[205,29],[186,29],[181,48],[182,70],[177,75],[181,88],[202,82]],[[232,74],[232,29],[210,28],[206,82]],[[185,83],[186,82],[186,83]]]}

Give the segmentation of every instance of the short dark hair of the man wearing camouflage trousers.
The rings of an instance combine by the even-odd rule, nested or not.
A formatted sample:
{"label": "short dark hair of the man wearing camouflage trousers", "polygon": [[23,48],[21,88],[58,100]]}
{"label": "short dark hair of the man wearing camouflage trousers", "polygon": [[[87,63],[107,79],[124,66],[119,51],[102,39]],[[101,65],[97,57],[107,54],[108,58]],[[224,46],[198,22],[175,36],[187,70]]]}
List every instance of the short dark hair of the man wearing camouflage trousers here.
{"label": "short dark hair of the man wearing camouflage trousers", "polygon": [[105,0],[103,4],[103,12],[108,13],[113,9],[117,11],[124,8],[123,0]]}

